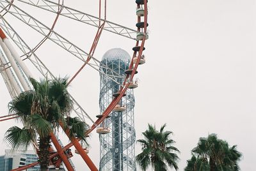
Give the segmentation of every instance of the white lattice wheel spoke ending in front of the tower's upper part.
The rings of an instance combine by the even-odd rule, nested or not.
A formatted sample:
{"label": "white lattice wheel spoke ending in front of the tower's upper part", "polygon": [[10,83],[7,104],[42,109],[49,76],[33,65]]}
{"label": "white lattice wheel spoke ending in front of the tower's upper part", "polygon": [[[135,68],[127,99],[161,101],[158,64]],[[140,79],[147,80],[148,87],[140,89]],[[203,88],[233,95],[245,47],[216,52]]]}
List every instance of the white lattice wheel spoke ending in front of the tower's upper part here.
{"label": "white lattice wheel spoke ending in front of the tower's upper part", "polygon": [[[6,3],[10,3],[10,2],[7,0],[0,0],[0,7],[4,8],[4,4],[6,5]],[[111,80],[113,80],[117,84],[120,84],[117,80],[118,78],[123,78],[124,75],[119,75],[115,71],[111,70],[110,68],[102,64],[100,66],[100,61],[98,59],[96,59],[93,56],[90,56],[88,53],[84,52],[84,50],[74,45],[74,43],[71,43],[66,38],[56,33],[49,27],[45,26],[44,24],[42,24],[42,22],[40,22],[39,20],[36,20],[34,17],[29,15],[28,13],[26,13],[26,11],[23,11],[19,7],[15,6],[15,4],[12,4],[12,7],[13,8],[10,8],[10,10],[8,10],[8,13],[12,14],[14,17],[21,20],[25,24],[27,24],[29,27],[35,29],[36,31],[38,31],[38,33],[47,37],[47,39],[53,41],[54,43],[59,45],[61,48],[64,48],[65,50],[70,52],[70,54],[76,56],[78,59],[80,59],[84,63],[86,62],[86,58],[89,57],[90,59],[92,59],[91,60],[92,63],[89,63],[89,62],[87,63],[89,66],[91,66],[93,69],[99,71],[102,74],[105,74],[105,73],[103,73],[102,70],[100,70],[99,68],[100,67],[105,68],[106,70],[109,71],[109,74],[105,74],[106,77],[109,77]],[[51,32],[51,34],[49,34],[49,32]]]}

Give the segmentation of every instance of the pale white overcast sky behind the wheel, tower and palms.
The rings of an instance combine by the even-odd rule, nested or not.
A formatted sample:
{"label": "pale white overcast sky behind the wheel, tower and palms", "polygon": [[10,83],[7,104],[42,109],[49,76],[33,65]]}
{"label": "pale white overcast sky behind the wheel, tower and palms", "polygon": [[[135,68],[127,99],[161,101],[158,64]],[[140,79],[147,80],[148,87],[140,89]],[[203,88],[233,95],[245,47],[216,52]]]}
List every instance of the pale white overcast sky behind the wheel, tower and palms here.
{"label": "pale white overcast sky behind the wheel, tower and palms", "polygon": [[[19,3],[17,3],[19,4]],[[65,1],[67,6],[97,15],[97,3]],[[136,98],[136,138],[147,123],[159,128],[167,124],[173,131],[176,147],[181,151],[179,168],[196,146],[198,138],[217,133],[230,145],[237,144],[243,152],[241,170],[255,170],[256,152],[256,89],[255,89],[255,1],[149,1],[149,39],[145,44],[147,63],[139,66],[140,85],[134,90]],[[40,21],[51,26],[51,13],[21,6]],[[136,4],[133,1],[108,1],[108,20],[136,29]],[[20,21],[5,16],[31,47],[42,36]],[[96,29],[60,17],[56,31],[88,52]],[[95,57],[101,59],[109,48],[124,48],[132,54],[135,41],[104,32]],[[46,41],[36,52],[55,75],[72,77],[82,65],[76,57]],[[26,61],[40,78],[35,68]],[[8,113],[10,96],[0,79],[0,115]],[[93,118],[99,114],[99,73],[86,66],[69,89]],[[147,97],[147,98],[145,98]],[[0,138],[17,123],[1,123]],[[90,157],[99,166],[99,140],[95,131],[90,140]],[[64,144],[67,138],[62,138]],[[0,140],[1,141],[1,140]],[[7,148],[1,142],[0,154]],[[140,146],[136,145],[136,154]],[[77,170],[85,164],[74,157]]]}

